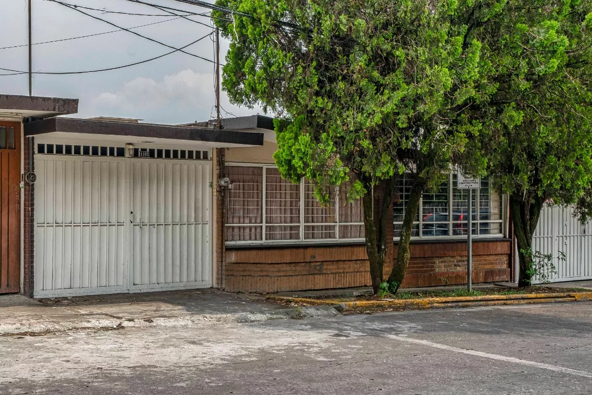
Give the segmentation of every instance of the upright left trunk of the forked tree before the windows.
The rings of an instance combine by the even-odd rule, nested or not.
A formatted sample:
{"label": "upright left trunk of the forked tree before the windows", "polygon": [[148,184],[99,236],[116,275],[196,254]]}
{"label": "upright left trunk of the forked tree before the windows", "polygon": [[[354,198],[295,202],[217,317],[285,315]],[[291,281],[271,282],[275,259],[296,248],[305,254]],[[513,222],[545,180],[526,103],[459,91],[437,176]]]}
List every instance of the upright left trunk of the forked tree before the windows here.
{"label": "upright left trunk of the forked tree before the windows", "polygon": [[[362,197],[366,252],[370,261],[372,291],[377,294],[383,280],[384,259],[387,254],[387,214],[395,182],[393,178],[386,179],[374,188],[370,182],[363,184],[367,191]],[[375,210],[375,204],[378,210]]]}

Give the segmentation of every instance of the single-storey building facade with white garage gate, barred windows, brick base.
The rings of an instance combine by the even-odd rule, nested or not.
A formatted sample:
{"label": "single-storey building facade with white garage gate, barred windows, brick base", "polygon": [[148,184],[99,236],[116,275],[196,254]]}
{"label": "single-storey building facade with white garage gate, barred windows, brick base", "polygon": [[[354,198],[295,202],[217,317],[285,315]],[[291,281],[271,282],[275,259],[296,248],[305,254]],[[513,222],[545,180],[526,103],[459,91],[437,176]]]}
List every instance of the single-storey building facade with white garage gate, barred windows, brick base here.
{"label": "single-storey building facade with white garage gate, barred windows, brick base", "polygon": [[[273,120],[144,124],[66,118],[73,99],[0,96],[0,293],[31,297],[217,287],[269,293],[369,285],[362,206],[282,179]],[[229,185],[218,182],[227,177]],[[466,191],[424,194],[404,287],[466,281]],[[397,252],[408,200],[388,223]],[[513,279],[507,204],[482,180],[474,282]]]}

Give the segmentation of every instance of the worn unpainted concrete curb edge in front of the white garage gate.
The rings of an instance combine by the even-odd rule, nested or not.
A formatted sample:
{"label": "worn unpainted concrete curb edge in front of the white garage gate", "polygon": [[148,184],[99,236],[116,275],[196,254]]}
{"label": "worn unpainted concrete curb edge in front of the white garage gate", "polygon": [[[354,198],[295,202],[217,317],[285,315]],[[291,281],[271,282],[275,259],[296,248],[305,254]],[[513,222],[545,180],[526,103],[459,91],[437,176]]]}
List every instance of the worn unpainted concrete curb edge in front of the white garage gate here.
{"label": "worn unpainted concrete curb edge in front of the white garage gate", "polygon": [[2,336],[42,336],[49,333],[71,332],[75,330],[117,330],[150,327],[184,327],[227,325],[231,323],[263,322],[269,320],[287,320],[304,318],[324,318],[338,316],[339,311],[328,306],[294,307],[291,309],[265,312],[241,312],[230,314],[195,314],[182,317],[141,317],[121,319],[92,319],[81,316],[79,320],[60,322],[59,320],[22,323],[0,322]]}

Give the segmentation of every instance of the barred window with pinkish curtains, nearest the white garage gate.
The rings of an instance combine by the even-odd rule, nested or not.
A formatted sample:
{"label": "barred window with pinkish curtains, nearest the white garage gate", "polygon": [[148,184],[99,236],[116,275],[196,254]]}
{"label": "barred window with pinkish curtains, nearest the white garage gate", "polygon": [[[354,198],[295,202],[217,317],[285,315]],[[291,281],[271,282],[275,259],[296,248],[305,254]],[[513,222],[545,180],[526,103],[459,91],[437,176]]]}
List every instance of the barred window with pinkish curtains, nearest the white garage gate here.
{"label": "barred window with pinkish curtains, nearest the white garage gate", "polygon": [[346,188],[332,188],[329,204],[314,197],[314,185],[292,184],[271,165],[226,165],[226,242],[274,243],[363,239],[360,200],[350,202]]}

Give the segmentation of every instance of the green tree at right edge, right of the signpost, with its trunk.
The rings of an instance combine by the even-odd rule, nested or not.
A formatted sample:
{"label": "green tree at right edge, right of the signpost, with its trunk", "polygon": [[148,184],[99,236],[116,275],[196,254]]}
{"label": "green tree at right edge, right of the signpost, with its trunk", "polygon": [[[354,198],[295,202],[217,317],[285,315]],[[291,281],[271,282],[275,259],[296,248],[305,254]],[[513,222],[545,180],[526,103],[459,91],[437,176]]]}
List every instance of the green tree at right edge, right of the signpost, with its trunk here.
{"label": "green tree at right edge, right of the signpost, with its trunk", "polygon": [[579,201],[582,216],[590,212],[592,14],[588,1],[521,0],[503,8],[476,18],[471,38],[482,44],[491,95],[461,122],[478,130],[466,152],[482,155],[509,195],[519,284],[527,286],[543,204]]}

